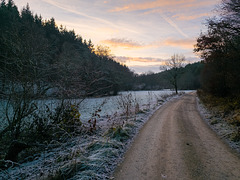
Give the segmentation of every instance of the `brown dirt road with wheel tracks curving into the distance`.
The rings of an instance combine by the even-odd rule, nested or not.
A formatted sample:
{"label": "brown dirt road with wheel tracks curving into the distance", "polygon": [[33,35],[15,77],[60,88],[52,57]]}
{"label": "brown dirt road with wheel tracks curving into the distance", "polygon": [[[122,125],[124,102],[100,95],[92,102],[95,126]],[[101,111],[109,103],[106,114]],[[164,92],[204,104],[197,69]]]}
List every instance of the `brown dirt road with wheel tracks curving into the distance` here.
{"label": "brown dirt road with wheel tracks curving into the distance", "polygon": [[205,124],[195,94],[161,107],[145,124],[115,179],[240,180],[240,158]]}

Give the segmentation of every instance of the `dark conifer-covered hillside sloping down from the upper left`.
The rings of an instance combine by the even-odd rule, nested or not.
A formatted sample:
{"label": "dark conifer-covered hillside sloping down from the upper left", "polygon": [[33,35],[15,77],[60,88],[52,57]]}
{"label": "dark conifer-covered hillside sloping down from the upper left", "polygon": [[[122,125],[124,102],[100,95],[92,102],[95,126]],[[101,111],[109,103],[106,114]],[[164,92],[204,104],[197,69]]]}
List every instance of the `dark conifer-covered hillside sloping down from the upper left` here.
{"label": "dark conifer-covered hillside sloping down from the upper left", "polygon": [[0,7],[0,92],[36,98],[117,94],[129,89],[133,72],[113,60],[107,48],[83,40],[74,30],[43,20],[29,5],[12,0]]}

